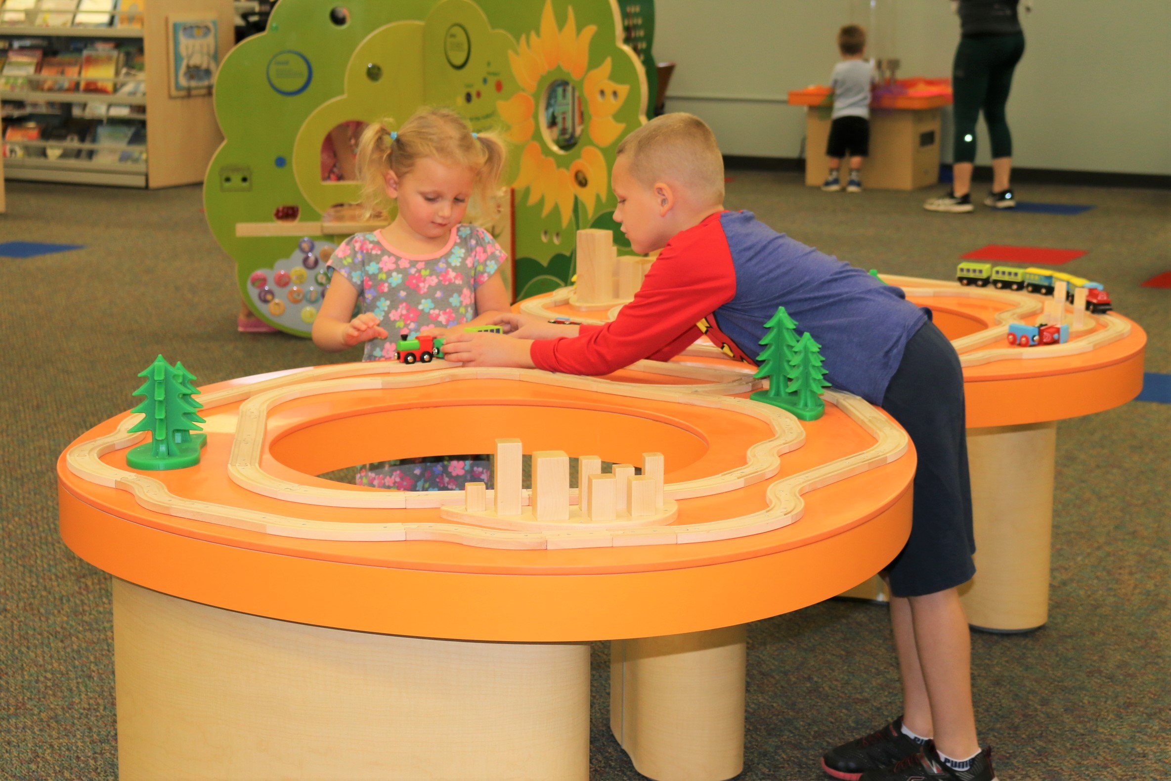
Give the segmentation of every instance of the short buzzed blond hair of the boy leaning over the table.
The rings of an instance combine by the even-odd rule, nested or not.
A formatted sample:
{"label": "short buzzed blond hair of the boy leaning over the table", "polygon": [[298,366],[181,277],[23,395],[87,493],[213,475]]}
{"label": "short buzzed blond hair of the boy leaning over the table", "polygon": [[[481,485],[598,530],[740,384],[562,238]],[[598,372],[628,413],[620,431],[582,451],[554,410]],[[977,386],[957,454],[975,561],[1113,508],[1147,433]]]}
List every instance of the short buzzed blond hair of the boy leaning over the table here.
{"label": "short buzzed blond hair of the boy leaning over the table", "polygon": [[622,139],[630,173],[645,184],[671,179],[686,186],[696,198],[724,203],[724,156],[715,133],[692,114],[664,114]]}

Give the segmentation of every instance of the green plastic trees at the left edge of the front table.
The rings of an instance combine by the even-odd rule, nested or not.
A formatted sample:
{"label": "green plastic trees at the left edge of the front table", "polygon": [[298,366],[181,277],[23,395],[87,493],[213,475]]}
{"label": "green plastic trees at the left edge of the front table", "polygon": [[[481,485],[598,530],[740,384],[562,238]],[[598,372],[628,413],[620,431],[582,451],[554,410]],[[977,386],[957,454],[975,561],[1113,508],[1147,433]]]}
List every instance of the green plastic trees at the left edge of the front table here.
{"label": "green plastic trees at the left edge of the front table", "polygon": [[194,399],[199,390],[192,384],[196,376],[182,363],[173,366],[163,356],[138,374],[145,378],[135,396],[145,396],[131,412],[144,417],[130,432],[145,431],[146,443],[126,452],[126,465],[135,470],[182,470],[199,463],[199,451],[207,444],[207,434],[197,424],[203,404]]}

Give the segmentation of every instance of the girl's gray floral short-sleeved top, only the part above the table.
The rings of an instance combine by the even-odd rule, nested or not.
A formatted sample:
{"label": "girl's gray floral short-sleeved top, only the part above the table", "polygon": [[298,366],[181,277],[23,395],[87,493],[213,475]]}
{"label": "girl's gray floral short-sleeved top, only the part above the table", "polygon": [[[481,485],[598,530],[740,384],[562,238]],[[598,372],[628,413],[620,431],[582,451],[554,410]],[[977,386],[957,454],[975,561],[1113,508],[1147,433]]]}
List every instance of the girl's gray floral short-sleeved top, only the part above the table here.
{"label": "girl's gray floral short-sleeved top, only the part above the table", "polygon": [[411,255],[382,239],[382,231],[356,233],[329,259],[358,292],[362,311],[378,316],[385,340],[370,340],[363,361],[391,358],[403,331],[412,337],[429,326],[451,328],[475,317],[475,289],[507,259],[492,234],[457,225],[436,254]]}

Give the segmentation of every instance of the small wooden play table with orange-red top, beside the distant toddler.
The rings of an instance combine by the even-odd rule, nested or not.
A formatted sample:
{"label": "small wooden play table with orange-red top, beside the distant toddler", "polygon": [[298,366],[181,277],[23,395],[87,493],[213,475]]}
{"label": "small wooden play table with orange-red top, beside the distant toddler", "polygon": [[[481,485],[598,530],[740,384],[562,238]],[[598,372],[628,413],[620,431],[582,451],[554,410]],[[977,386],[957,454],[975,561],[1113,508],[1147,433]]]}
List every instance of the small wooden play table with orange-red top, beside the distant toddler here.
{"label": "small wooden play table with orange-red top, beside the distant toddler", "polygon": [[[810,186],[821,186],[829,172],[826,143],[833,104],[828,102],[828,88],[824,89],[789,93],[790,105],[807,107],[806,184]],[[862,166],[863,189],[917,190],[939,181],[939,107],[950,102],[932,97],[889,100],[871,105],[870,155]],[[843,159],[843,183],[848,169],[849,163]]]}

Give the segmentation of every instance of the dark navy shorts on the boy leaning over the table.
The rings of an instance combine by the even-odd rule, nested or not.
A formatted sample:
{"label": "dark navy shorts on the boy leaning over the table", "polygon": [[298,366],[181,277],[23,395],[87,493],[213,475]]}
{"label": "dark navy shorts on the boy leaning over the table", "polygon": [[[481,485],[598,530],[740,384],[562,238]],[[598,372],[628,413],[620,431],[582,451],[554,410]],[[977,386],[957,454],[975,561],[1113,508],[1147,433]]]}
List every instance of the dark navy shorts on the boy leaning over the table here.
{"label": "dark navy shorts on the boy leaning over the table", "polygon": [[975,574],[964,375],[947,337],[926,322],[906,343],[883,409],[918,452],[911,537],[886,573],[895,596],[934,594]]}

